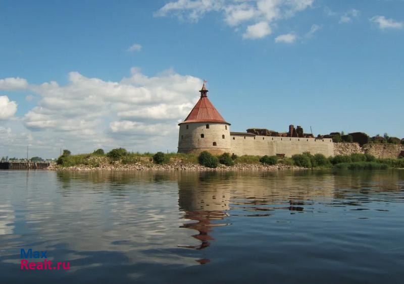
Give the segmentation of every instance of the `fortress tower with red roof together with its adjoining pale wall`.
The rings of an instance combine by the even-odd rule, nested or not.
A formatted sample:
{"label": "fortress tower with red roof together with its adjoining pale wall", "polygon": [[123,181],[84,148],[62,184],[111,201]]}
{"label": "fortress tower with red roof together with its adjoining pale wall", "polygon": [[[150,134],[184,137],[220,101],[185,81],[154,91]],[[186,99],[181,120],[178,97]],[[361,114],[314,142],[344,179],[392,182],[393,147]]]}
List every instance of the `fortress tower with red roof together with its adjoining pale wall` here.
{"label": "fortress tower with red roof together with its adjoining pale wall", "polygon": [[278,155],[310,152],[332,156],[332,138],[314,138],[303,132],[300,126],[279,133],[268,129],[248,129],[247,132],[230,132],[228,123],[208,98],[204,85],[200,98],[185,120],[179,123],[178,152],[195,153],[209,151],[212,154]]}

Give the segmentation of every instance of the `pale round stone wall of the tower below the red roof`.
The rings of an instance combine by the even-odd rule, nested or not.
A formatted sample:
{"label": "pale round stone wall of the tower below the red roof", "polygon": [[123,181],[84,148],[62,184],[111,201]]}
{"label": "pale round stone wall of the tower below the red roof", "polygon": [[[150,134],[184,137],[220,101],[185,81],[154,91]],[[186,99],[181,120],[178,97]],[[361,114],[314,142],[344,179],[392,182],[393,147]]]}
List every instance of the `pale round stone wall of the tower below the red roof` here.
{"label": "pale round stone wall of the tower below the red roof", "polygon": [[[206,125],[209,125],[209,128]],[[188,126],[188,129],[187,129]],[[203,134],[204,138],[200,135]],[[224,135],[224,138],[222,138]],[[224,123],[184,123],[180,124],[178,152],[199,154],[209,151],[218,155],[231,153],[230,125]],[[213,143],[216,142],[216,146]]]}

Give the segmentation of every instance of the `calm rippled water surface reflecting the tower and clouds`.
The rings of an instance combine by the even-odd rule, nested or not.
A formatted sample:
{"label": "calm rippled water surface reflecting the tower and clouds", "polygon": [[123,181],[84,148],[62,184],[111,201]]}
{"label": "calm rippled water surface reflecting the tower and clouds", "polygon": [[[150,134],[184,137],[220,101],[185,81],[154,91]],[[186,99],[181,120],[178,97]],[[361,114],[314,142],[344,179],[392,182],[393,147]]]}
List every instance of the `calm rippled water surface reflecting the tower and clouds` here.
{"label": "calm rippled water surface reflecting the tower and clouds", "polygon": [[403,283],[404,171],[0,171],[0,283],[258,281]]}

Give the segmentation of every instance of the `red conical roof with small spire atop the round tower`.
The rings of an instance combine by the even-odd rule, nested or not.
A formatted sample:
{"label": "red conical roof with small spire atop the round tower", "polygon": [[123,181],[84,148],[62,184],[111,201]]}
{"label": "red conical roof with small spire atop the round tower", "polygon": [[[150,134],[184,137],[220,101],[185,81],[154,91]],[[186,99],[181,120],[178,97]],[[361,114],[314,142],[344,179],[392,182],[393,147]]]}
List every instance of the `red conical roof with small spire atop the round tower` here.
{"label": "red conical roof with small spire atop the round tower", "polygon": [[189,112],[189,115],[186,117],[186,119],[180,124],[192,122],[217,122],[230,125],[223,119],[219,111],[217,111],[215,106],[213,106],[212,102],[209,100],[207,95],[208,90],[205,87],[205,83],[199,92],[200,98],[198,102],[192,108],[191,112]]}

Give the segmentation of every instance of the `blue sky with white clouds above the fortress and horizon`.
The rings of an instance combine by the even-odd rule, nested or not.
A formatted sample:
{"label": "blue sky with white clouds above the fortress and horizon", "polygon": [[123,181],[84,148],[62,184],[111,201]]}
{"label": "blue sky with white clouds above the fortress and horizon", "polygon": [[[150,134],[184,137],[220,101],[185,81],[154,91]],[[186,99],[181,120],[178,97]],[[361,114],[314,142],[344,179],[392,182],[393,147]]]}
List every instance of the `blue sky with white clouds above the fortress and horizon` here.
{"label": "blue sky with white clouds above the fortress and horizon", "polygon": [[0,156],[27,144],[46,157],[175,151],[203,79],[232,131],[403,138],[402,11],[401,0],[0,0]]}

